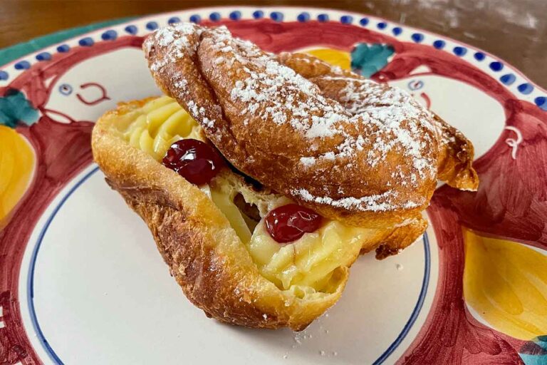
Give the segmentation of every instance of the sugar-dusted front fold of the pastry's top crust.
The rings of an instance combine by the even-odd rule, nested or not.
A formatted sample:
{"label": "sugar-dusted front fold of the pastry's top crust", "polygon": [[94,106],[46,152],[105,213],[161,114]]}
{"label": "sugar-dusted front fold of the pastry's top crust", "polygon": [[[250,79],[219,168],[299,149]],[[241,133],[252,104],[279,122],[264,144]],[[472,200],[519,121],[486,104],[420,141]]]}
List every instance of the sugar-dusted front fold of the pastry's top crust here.
{"label": "sugar-dusted front fold of the pastry's top crust", "polygon": [[[144,48],[160,88],[191,113],[227,160],[262,184],[350,225],[389,228],[427,207],[437,179],[436,131],[427,112],[404,93],[392,95],[391,101],[405,102],[390,109],[400,120],[386,129],[379,126],[386,118],[382,110],[353,116],[323,98],[317,86],[302,86],[306,79],[287,76],[288,68],[267,76],[270,66],[279,66],[274,56],[223,29],[167,27],[147,38]],[[279,86],[280,99],[246,88],[256,75]],[[280,75],[288,81],[276,85]],[[395,91],[378,86],[370,93],[371,107],[382,106],[373,100],[387,95],[384,90]],[[287,103],[292,106],[278,114],[276,106]],[[322,120],[323,129],[333,120],[334,132],[313,125],[300,130],[299,113]]]}

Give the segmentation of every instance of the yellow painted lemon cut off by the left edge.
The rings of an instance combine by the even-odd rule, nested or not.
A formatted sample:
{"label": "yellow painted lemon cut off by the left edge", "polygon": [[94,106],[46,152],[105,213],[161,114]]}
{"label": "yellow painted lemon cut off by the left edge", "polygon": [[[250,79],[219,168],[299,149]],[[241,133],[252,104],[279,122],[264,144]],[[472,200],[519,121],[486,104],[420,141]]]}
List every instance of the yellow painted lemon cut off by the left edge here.
{"label": "yellow painted lemon cut off by the left edge", "polygon": [[30,183],[34,160],[33,149],[25,138],[0,125],[0,229]]}

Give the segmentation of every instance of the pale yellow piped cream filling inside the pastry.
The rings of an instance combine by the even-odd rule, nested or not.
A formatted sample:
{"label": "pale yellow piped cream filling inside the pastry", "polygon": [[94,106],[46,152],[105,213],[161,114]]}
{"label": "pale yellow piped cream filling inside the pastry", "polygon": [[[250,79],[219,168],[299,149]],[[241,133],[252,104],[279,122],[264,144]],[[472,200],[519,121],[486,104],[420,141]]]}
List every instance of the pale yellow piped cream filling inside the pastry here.
{"label": "pale yellow piped cream filling inside the pastry", "polygon": [[[118,130],[127,143],[157,161],[162,160],[177,140],[206,140],[197,122],[167,96],[151,99],[120,119]],[[290,203],[287,197],[256,192],[229,170],[200,188],[229,220],[259,272],[279,289],[293,292],[296,297],[333,292],[338,286],[333,278],[335,269],[353,263],[369,232],[365,228],[325,220],[316,232],[306,233],[286,245],[279,244],[266,232],[264,217],[270,210]],[[261,217],[258,223],[239,209],[234,202],[236,195],[242,195],[247,204],[256,206]]]}

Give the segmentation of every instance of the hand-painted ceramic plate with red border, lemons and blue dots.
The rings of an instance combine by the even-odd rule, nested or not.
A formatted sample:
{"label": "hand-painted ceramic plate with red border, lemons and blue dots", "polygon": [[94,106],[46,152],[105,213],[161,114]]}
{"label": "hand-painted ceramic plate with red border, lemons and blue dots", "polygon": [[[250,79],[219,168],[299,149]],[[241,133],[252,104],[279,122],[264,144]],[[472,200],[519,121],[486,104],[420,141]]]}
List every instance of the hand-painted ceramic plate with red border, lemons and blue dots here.
{"label": "hand-painted ceramic plate with red border, lemons and blue dots", "polygon": [[[479,191],[440,186],[427,233],[360,257],[300,333],[219,324],[185,299],[145,223],[93,164],[93,121],[158,95],[140,50],[226,24],[410,91],[476,147]],[[0,360],[9,364],[545,364],[547,93],[495,56],[324,9],[179,11],[100,29],[0,71]]]}

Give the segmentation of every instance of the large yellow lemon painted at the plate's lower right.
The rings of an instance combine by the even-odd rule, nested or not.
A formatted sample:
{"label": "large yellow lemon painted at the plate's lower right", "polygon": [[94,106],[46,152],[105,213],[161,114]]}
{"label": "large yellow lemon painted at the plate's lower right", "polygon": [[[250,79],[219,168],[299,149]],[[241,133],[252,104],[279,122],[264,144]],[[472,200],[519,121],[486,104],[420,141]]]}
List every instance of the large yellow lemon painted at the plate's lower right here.
{"label": "large yellow lemon painted at the plate's lower right", "polygon": [[494,329],[531,340],[547,334],[547,256],[464,228],[464,297]]}

